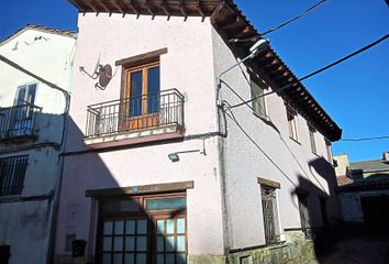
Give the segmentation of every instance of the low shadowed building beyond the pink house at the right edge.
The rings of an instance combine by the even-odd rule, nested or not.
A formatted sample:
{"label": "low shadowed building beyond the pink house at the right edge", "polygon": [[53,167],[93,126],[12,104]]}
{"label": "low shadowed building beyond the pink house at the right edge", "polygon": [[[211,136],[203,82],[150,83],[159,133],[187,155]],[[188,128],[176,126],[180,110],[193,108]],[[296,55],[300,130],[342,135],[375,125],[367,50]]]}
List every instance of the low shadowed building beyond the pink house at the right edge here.
{"label": "low shadowed building beyond the pink house at the right edge", "polygon": [[349,163],[347,154],[336,155],[337,193],[343,220],[388,229],[389,152],[381,160]]}

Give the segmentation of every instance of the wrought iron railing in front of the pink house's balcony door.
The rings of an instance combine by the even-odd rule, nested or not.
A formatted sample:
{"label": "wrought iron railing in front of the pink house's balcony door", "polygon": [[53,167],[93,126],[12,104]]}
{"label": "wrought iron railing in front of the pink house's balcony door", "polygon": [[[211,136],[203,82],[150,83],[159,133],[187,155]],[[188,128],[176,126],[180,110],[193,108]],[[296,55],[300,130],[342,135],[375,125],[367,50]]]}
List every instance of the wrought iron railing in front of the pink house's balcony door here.
{"label": "wrought iron railing in front of the pink house's balcony door", "polygon": [[101,102],[87,111],[87,138],[184,127],[184,96],[177,89]]}

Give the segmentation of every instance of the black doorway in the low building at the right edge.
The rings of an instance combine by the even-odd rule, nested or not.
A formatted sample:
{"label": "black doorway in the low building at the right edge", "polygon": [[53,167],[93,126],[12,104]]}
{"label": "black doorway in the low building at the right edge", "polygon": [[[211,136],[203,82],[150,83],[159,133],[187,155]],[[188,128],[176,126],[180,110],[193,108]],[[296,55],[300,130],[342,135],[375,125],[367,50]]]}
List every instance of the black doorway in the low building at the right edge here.
{"label": "black doorway in the low building at the right edge", "polygon": [[373,230],[389,230],[389,196],[360,197],[366,227]]}

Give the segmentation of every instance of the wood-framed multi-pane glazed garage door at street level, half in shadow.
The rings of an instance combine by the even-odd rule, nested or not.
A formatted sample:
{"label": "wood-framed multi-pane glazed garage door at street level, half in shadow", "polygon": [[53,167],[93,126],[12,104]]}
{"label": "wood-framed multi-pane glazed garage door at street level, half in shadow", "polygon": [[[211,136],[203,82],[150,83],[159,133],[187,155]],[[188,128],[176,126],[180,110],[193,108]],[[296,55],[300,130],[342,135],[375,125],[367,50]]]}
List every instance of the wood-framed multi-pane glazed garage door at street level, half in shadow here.
{"label": "wood-framed multi-pane glazed garage door at street level, half in shadow", "polygon": [[156,195],[101,204],[102,264],[186,264],[186,196]]}

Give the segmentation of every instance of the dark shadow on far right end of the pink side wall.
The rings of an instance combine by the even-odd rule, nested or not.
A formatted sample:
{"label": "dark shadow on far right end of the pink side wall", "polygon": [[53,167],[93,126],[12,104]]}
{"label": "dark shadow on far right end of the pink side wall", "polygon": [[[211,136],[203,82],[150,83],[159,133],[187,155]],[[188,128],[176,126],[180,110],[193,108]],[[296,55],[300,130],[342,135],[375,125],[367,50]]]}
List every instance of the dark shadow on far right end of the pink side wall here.
{"label": "dark shadow on far right end of the pink side wall", "polygon": [[[309,162],[311,175],[320,175],[325,185],[315,185],[312,180],[298,175],[298,185],[291,193],[297,196],[300,212],[301,230],[305,238],[313,242],[314,253],[320,263],[320,256],[332,250],[337,238],[338,204],[336,202],[336,176],[331,164],[323,157]],[[329,193],[325,186],[329,186]]]}

